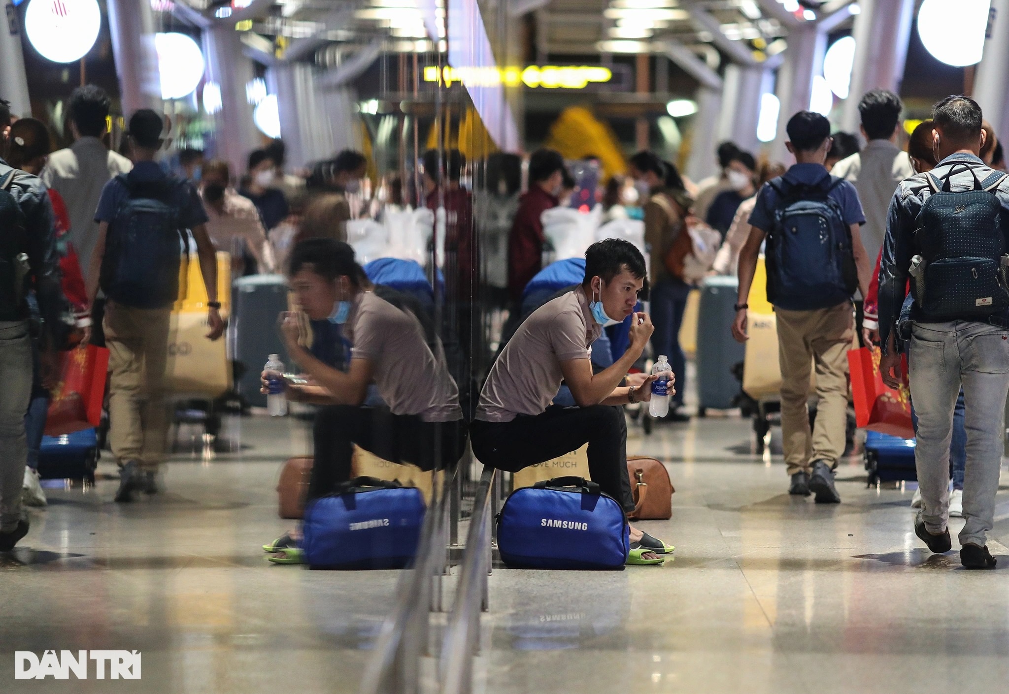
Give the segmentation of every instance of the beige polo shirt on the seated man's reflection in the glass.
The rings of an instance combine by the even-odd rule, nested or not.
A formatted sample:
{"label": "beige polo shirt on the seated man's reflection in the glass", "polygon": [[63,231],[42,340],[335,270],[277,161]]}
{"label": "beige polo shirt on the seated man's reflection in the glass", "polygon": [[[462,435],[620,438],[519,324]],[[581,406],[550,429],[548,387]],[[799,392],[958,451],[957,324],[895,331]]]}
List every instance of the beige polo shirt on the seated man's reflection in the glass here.
{"label": "beige polo shirt on the seated man's reflection in the glass", "polygon": [[372,362],[378,394],[394,415],[418,415],[425,422],[462,419],[459,388],[449,375],[445,353],[431,352],[412,313],[362,292],[354,299],[343,334],[353,345],[351,359]]}

